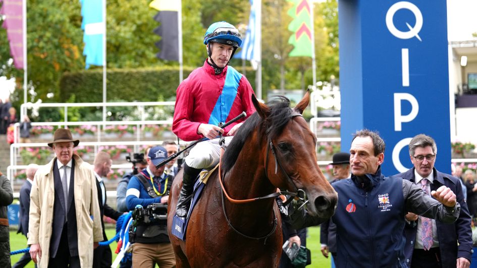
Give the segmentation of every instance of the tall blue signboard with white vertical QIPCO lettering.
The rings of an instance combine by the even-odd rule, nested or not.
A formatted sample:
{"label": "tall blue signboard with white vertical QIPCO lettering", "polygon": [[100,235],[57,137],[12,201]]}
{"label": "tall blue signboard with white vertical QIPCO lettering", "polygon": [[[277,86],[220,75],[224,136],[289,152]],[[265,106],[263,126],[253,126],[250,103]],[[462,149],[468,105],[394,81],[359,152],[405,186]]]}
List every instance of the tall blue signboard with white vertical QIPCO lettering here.
{"label": "tall blue signboard with white vertical QIPCO lettering", "polygon": [[356,130],[378,130],[389,176],[412,167],[409,141],[425,133],[450,173],[446,1],[340,0],[338,10],[342,149]]}

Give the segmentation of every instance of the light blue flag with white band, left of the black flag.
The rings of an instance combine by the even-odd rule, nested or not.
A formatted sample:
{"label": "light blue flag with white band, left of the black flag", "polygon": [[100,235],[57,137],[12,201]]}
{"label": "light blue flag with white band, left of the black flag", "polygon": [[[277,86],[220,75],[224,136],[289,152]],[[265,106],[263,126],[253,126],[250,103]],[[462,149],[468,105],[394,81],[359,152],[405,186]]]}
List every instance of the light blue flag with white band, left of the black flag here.
{"label": "light blue flag with white band, left of the black flag", "polygon": [[79,0],[81,3],[81,16],[83,22],[81,29],[84,31],[83,55],[86,56],[86,69],[89,65],[102,66],[104,63],[104,31],[103,1],[104,0]]}

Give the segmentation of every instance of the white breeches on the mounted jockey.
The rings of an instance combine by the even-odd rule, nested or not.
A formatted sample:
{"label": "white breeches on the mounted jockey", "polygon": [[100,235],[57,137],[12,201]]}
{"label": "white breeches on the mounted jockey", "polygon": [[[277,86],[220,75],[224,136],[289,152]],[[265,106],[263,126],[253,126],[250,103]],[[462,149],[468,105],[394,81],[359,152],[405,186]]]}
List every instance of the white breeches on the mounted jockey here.
{"label": "white breeches on the mounted jockey", "polygon": [[[233,137],[225,137],[225,146],[230,144]],[[219,138],[208,140],[196,144],[186,157],[185,162],[189,167],[198,169],[211,169],[215,167],[220,160]]]}

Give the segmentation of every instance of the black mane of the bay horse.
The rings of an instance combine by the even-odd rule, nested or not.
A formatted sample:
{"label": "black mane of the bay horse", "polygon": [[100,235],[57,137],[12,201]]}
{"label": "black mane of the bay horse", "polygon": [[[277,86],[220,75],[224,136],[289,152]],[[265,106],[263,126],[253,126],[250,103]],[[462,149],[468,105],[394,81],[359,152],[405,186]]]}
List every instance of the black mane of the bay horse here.
{"label": "black mane of the bay horse", "polygon": [[284,96],[277,96],[267,105],[270,108],[270,115],[266,120],[263,120],[257,112],[254,112],[235,134],[222,159],[222,169],[225,172],[235,165],[245,141],[255,128],[259,127],[260,135],[266,134],[270,139],[274,139],[280,135],[288,120],[292,117],[293,111],[290,108],[290,100]]}

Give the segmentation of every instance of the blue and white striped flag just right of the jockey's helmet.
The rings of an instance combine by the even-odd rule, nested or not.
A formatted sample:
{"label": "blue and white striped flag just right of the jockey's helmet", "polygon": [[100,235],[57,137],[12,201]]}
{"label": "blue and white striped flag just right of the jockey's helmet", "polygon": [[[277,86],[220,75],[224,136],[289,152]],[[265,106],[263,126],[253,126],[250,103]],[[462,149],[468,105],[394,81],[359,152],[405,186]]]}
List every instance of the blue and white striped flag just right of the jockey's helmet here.
{"label": "blue and white striped flag just right of the jockey's helmet", "polygon": [[261,0],[250,0],[250,5],[250,18],[242,49],[234,57],[256,63],[261,60]]}

